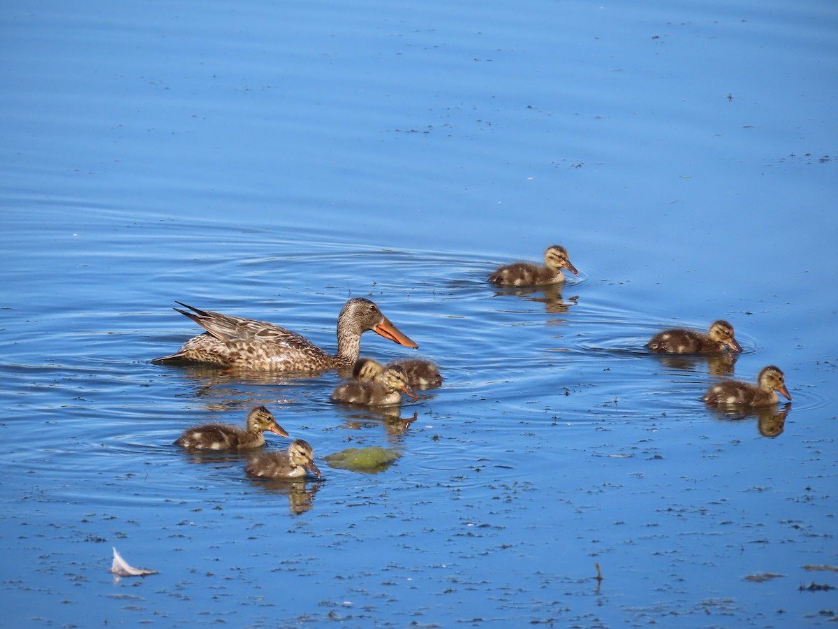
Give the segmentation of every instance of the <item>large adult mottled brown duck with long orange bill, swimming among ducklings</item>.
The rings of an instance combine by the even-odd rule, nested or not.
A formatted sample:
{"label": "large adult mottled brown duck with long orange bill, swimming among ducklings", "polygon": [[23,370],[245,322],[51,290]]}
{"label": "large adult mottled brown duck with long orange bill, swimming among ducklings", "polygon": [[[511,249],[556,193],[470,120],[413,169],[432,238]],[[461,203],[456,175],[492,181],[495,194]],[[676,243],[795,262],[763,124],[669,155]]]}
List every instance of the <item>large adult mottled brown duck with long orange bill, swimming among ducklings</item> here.
{"label": "large adult mottled brown duck with long orange bill, swimming among ducklings", "polygon": [[349,299],[338,315],[338,353],[328,354],[310,340],[278,325],[229,314],[175,308],[200,325],[204,334],[187,340],[174,354],[156,362],[193,361],[266,372],[314,372],[350,366],[358,360],[360,337],[373,330],[400,345],[418,347],[369,299]]}

